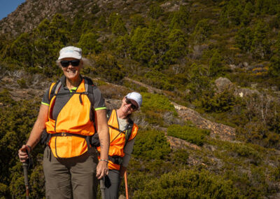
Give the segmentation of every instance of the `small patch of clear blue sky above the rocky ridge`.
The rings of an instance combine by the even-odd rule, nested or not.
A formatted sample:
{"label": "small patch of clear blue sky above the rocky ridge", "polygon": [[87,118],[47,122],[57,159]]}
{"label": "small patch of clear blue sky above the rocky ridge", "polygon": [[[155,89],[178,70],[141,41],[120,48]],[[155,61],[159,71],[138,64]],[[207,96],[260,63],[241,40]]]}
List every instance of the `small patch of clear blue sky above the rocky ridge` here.
{"label": "small patch of clear blue sky above the rocky ridge", "polygon": [[25,0],[0,0],[0,20],[15,11]]}

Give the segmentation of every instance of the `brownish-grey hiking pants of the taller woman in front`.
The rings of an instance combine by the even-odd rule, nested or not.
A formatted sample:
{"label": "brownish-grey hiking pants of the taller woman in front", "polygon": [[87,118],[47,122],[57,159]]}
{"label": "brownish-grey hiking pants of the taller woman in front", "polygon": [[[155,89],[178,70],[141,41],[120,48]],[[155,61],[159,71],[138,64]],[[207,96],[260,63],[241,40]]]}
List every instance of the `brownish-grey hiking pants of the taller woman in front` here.
{"label": "brownish-grey hiking pants of the taller woman in front", "polygon": [[75,158],[58,159],[47,146],[43,156],[46,198],[97,198],[97,163],[95,149]]}

